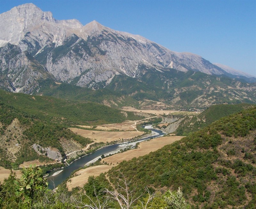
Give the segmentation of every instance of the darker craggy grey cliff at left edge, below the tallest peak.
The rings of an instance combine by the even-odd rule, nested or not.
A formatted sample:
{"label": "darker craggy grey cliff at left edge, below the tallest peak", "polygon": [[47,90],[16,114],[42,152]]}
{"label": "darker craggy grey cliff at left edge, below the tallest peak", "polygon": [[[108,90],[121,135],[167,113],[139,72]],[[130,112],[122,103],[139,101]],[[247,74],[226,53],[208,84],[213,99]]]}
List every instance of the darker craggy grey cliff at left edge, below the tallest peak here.
{"label": "darker craggy grey cliff at left edge, below the tallest peak", "polygon": [[13,92],[31,94],[39,81],[54,77],[27,51],[10,43],[0,48],[0,86]]}

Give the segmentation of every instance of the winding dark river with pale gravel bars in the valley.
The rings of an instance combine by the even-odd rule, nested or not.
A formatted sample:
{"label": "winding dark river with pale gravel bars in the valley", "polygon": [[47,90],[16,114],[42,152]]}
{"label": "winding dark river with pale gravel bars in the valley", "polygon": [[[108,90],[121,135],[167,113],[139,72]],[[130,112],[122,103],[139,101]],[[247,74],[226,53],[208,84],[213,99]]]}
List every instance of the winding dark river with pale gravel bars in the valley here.
{"label": "winding dark river with pale gravel bars in the valley", "polygon": [[[113,144],[113,145],[109,145],[106,147],[102,147],[99,150],[96,150],[91,154],[85,155],[84,157],[81,157],[80,159],[75,160],[73,163],[71,163],[69,166],[67,166],[63,169],[60,169],[57,171],[56,170],[52,171],[48,177],[49,188],[54,189],[60,183],[65,181],[74,170],[95,162],[97,159],[100,158],[101,155],[106,156],[108,154],[113,154],[120,150],[124,150],[125,148],[129,148],[129,147],[133,148],[136,145],[136,143],[138,143],[138,142],[142,142],[147,139],[152,139],[152,138],[164,135],[164,133],[162,131],[152,128],[151,125],[145,126],[144,128],[151,130],[153,135],[141,138],[141,139],[133,141],[133,142],[118,143],[118,144]],[[56,172],[60,172],[60,173],[56,173]]]}

